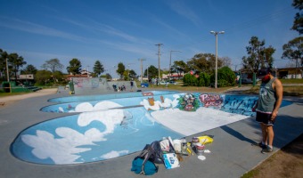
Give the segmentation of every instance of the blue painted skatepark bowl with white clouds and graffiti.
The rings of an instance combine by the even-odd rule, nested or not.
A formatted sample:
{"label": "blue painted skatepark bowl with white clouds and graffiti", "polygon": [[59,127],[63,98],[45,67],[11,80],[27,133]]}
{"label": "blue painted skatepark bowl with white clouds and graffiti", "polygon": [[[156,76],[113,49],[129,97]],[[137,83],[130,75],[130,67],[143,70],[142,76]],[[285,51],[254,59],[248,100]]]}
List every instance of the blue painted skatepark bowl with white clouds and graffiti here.
{"label": "blue painted skatepark bowl with white clouds and graffiti", "polygon": [[[40,111],[65,113],[24,129],[11,152],[44,165],[81,164],[143,150],[253,117],[257,96],[151,91],[53,98]],[[283,101],[283,106],[290,105]],[[69,116],[66,116],[66,115]]]}

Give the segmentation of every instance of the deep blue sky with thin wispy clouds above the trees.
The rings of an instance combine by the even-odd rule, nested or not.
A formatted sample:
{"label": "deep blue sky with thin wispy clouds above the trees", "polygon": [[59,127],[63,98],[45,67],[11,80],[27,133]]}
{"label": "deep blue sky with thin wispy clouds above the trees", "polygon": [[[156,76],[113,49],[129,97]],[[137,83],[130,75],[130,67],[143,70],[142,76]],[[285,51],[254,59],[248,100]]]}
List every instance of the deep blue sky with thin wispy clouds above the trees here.
{"label": "deep blue sky with thin wispy clouds above the trees", "polygon": [[272,45],[274,66],[282,60],[283,44],[299,36],[291,30],[297,12],[292,0],[0,0],[0,48],[18,53],[41,69],[57,58],[64,65],[77,58],[92,70],[99,60],[105,69],[123,62],[140,75],[148,65],[168,69],[196,53],[216,53],[240,68],[251,36]]}

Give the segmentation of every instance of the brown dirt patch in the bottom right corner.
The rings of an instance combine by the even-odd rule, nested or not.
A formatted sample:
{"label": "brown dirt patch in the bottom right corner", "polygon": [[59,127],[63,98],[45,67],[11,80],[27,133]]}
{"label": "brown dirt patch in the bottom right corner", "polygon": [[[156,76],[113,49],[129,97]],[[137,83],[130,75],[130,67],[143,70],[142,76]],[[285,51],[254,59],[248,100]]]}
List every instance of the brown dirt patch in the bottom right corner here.
{"label": "brown dirt patch in the bottom right corner", "polygon": [[303,174],[303,134],[242,178],[300,178]]}

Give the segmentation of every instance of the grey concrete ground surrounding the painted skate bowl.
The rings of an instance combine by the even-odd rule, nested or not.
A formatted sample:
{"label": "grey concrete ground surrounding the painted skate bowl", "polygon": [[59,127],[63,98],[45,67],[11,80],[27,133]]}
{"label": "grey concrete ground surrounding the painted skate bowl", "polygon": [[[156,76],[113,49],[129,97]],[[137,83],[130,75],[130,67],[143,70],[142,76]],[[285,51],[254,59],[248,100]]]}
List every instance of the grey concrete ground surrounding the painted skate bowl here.
{"label": "grey concrete ground surrounding the painted skate bowl", "polygon": [[[138,152],[120,158],[70,166],[37,165],[12,156],[10,145],[22,130],[63,115],[39,111],[43,106],[52,104],[47,102],[48,99],[69,95],[64,90],[59,92],[25,97],[9,105],[0,106],[0,177],[142,177],[143,175],[130,171],[132,160]],[[284,99],[293,101],[293,104],[279,110],[279,117],[274,125],[274,151],[303,133],[303,98]],[[0,98],[0,101],[4,101],[4,98]],[[198,159],[196,155],[184,157],[180,167],[167,170],[163,165],[159,165],[159,172],[151,177],[241,177],[272,154],[261,154],[259,148],[250,145],[252,142],[259,142],[261,134],[253,117],[190,135],[186,140],[191,141],[192,136],[203,134],[214,135],[214,142],[206,145],[206,149],[211,153],[204,153],[205,160]]]}

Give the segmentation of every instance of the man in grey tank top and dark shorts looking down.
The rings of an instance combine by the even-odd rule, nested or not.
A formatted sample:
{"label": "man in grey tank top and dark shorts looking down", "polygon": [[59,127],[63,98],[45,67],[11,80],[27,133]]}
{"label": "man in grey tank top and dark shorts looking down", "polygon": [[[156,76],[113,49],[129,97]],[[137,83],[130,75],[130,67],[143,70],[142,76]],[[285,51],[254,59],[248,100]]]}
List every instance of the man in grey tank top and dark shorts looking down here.
{"label": "man in grey tank top and dark shorts looking down", "polygon": [[258,77],[262,80],[260,85],[258,102],[252,111],[257,111],[256,121],[260,123],[262,130],[262,142],[258,145],[262,153],[273,151],[274,121],[283,99],[283,85],[281,81],[272,75],[272,70],[260,69]]}

